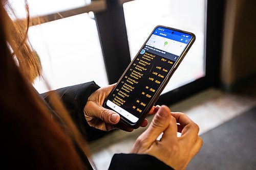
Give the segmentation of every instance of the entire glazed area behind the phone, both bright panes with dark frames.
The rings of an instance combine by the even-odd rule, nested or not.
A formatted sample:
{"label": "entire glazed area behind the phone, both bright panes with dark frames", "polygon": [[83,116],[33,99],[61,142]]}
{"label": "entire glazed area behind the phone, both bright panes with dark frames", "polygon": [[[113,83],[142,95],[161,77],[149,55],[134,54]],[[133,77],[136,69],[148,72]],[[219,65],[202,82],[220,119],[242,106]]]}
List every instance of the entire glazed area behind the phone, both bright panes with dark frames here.
{"label": "entire glazed area behind the phone, both bright panes with dark frames", "polygon": [[[18,12],[18,18],[24,18],[26,13],[25,9],[20,9],[23,6],[20,1],[9,1]],[[100,86],[117,82],[157,25],[196,35],[194,45],[158,104],[169,104],[218,84],[223,1],[28,2],[32,16],[47,18],[41,25],[32,22],[29,41],[53,89],[92,80]],[[34,86],[39,92],[47,91],[38,79]]]}

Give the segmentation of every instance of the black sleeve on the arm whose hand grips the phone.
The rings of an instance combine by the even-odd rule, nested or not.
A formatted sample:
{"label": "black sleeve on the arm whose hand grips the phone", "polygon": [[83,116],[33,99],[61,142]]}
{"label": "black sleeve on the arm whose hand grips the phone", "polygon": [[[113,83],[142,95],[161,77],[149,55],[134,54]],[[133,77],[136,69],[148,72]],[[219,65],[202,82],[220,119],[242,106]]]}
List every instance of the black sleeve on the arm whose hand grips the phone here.
{"label": "black sleeve on the arm whose hand grips the phone", "polygon": [[[83,113],[83,108],[89,96],[98,88],[99,86],[95,82],[88,82],[55,90],[59,94],[61,101],[70,113],[77,128],[88,141],[98,139],[106,133],[105,131],[89,126]],[[51,101],[48,93],[42,93],[40,96],[50,106]],[[53,109],[52,107],[50,108]]]}

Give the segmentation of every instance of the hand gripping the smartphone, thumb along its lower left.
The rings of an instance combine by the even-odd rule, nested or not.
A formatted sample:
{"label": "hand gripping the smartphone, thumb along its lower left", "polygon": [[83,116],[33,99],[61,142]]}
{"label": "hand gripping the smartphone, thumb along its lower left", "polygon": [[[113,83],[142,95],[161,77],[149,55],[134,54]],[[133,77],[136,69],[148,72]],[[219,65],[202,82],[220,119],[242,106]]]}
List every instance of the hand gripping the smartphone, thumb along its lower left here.
{"label": "hand gripping the smartphone, thumb along its lower left", "polygon": [[[84,116],[86,117],[88,124],[97,129],[109,131],[118,128],[127,132],[132,132],[133,128],[119,122],[120,115],[118,113],[102,107],[104,100],[108,97],[115,85],[116,84],[112,84],[103,88],[99,88],[98,90],[93,92],[88,98],[86,106],[83,109]],[[156,113],[159,107],[153,106],[148,114]],[[141,127],[146,126],[147,120],[144,119]]]}

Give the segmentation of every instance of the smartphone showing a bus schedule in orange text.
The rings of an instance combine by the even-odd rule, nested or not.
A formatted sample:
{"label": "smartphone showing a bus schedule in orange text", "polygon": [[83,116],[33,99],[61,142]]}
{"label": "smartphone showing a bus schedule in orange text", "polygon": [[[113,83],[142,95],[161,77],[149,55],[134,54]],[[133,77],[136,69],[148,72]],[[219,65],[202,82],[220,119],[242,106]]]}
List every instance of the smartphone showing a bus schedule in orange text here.
{"label": "smartphone showing a bus schedule in orange text", "polygon": [[195,39],[193,33],[157,26],[104,101],[104,107],[137,129]]}

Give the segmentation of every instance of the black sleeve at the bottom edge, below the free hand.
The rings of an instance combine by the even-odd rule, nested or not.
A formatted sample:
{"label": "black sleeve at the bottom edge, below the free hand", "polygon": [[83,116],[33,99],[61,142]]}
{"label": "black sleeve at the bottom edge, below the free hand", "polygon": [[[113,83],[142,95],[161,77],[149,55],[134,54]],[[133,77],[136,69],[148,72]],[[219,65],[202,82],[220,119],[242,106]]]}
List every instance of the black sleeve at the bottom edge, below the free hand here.
{"label": "black sleeve at the bottom edge, below the free hand", "polygon": [[111,160],[109,170],[122,169],[122,170],[173,170],[172,167],[166,165],[159,159],[151,155],[139,154],[115,154]]}

